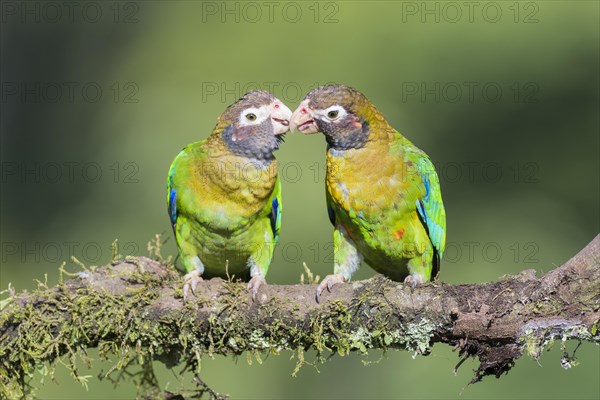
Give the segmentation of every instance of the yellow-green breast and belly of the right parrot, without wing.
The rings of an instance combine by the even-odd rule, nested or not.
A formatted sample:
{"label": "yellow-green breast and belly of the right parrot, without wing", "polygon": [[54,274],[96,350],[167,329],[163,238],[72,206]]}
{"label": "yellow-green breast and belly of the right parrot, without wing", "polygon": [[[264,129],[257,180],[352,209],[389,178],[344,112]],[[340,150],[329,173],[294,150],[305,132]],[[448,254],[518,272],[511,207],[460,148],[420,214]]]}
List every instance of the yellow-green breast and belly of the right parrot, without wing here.
{"label": "yellow-green breast and belly of the right parrot, without wing", "polygon": [[[368,142],[360,149],[329,150],[328,206],[334,225],[344,227],[364,260],[376,271],[402,280],[408,262],[433,253],[416,204],[427,195],[410,142]],[[405,139],[404,139],[405,140]],[[429,262],[429,264],[431,264]],[[431,270],[431,265],[429,265]]]}

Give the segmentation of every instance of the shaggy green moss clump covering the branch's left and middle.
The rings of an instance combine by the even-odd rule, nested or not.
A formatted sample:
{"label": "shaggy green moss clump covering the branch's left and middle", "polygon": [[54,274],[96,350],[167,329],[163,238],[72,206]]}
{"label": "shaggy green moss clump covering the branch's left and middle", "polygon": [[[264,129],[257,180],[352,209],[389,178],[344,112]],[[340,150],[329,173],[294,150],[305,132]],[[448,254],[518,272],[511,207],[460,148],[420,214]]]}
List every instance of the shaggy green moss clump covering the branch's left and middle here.
{"label": "shaggy green moss clump covering the branch's left and middle", "polygon": [[[232,282],[223,283],[218,303],[197,299],[199,304],[214,310],[204,326],[198,323],[194,307],[155,320],[140,310],[156,299],[159,287],[165,284],[180,287],[181,281],[159,280],[144,271],[138,259],[127,258],[126,262],[138,266],[127,275],[131,284],[128,296],[114,296],[91,288],[78,289],[76,296],[67,296],[68,292],[63,290],[67,283],[61,283],[57,290],[45,290],[45,283],[40,282],[39,290],[28,295],[35,298],[35,305],[29,301],[20,306],[13,301],[6,306],[0,323],[15,330],[2,332],[0,342],[0,385],[4,397],[34,396],[30,382],[36,379],[36,374],[39,381],[52,378],[58,361],[86,386],[90,377],[81,374],[78,365],[91,364],[85,352],[89,347],[97,347],[100,358],[113,363],[103,378],[118,380],[131,375],[140,390],[148,391],[155,384],[151,365],[156,359],[171,365],[183,364],[199,373],[205,355],[247,352],[249,362],[262,362],[262,352],[279,354],[292,350],[297,361],[293,371],[296,373],[302,365],[309,364],[304,356],[309,349],[315,350],[318,362],[324,362],[333,353],[366,354],[374,347],[405,347],[423,353],[435,328],[426,319],[390,327],[385,315],[368,320],[369,325],[357,325],[358,313],[382,307],[370,303],[371,293],[364,291],[350,306],[334,301],[316,309],[302,325],[297,325],[297,315],[285,318],[281,312],[282,306],[295,312],[297,307],[269,301],[253,317],[268,323],[256,329],[252,314],[248,313],[250,304],[245,285]],[[89,273],[89,268],[85,269],[84,277]],[[61,273],[82,274],[68,272],[64,265]],[[119,272],[115,269],[111,274],[118,276]],[[132,368],[141,372],[115,374]]]}

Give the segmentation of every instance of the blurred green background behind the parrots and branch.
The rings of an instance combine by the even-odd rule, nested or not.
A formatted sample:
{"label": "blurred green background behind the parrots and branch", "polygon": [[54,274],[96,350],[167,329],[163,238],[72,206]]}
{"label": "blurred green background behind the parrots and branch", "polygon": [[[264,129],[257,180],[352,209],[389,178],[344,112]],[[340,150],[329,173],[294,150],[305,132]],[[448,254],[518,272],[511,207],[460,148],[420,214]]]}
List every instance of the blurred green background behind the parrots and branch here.
{"label": "blurred green background behind the parrots and branch", "polygon": [[[175,254],[170,162],[257,86],[292,110],[318,84],[354,86],[430,155],[448,215],[444,281],[548,271],[600,230],[598,2],[48,4],[1,6],[2,288],[33,289],[46,273],[55,283],[71,255],[106,263],[115,238],[145,255],[163,233]],[[322,136],[293,134],[277,153],[285,205],[270,283],[298,282],[303,261],[331,271],[324,152]],[[296,378],[288,354],[205,359],[203,378],[234,398],[599,398],[598,347],[583,344],[571,370],[558,347],[469,387],[475,362],[455,376],[442,345],[366,367],[334,357]],[[39,398],[135,395],[95,379],[99,365],[82,370],[88,391],[58,373]],[[167,388],[189,385],[157,369]]]}

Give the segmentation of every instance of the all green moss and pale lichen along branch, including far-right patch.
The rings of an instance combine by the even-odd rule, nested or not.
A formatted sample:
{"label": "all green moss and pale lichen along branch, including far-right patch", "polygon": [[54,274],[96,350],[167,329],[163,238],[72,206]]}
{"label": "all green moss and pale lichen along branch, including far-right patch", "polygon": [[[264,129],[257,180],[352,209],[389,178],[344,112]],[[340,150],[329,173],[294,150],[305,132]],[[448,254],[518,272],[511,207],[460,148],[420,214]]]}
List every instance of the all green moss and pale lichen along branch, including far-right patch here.
{"label": "all green moss and pale lichen along branch, including far-right patch", "polygon": [[[153,257],[166,261],[160,254],[160,238],[149,246]],[[405,315],[385,300],[385,295],[398,290],[385,279],[354,283],[350,304],[329,301],[300,315],[300,306],[292,299],[268,299],[252,304],[246,285],[224,281],[217,299],[195,297],[181,309],[162,313],[160,318],[147,315],[144,305],[152,304],[159,291],[171,288],[181,296],[183,282],[168,263],[170,272],[157,276],[145,270],[144,263],[134,257],[124,260],[113,248],[113,266],[105,272],[110,277],[126,278],[127,296],[115,296],[93,285],[78,289],[75,296],[67,291],[63,276],[87,279],[94,267],[79,265],[70,272],[63,264],[60,284],[23,295],[26,302],[11,292],[10,301],[3,300],[0,326],[13,327],[0,331],[0,390],[3,397],[33,396],[30,383],[52,379],[57,364],[64,364],[82,385],[89,379],[78,366],[90,365],[86,349],[97,347],[100,358],[112,366],[101,378],[131,379],[141,392],[156,389],[152,362],[160,360],[168,366],[183,365],[196,375],[201,372],[202,358],[215,355],[246,353],[250,363],[262,362],[266,353],[291,351],[296,374],[303,365],[315,368],[331,355],[350,352],[367,355],[371,349],[406,349],[427,354],[432,336],[440,327],[426,311]],[[135,265],[123,276],[118,262]],[[146,264],[147,265],[147,264]],[[69,286],[73,287],[73,286]],[[33,300],[33,301],[32,301]],[[533,307],[557,307],[540,303]],[[204,313],[199,317],[199,312]],[[206,313],[209,313],[206,316]],[[260,322],[260,325],[257,324]],[[599,343],[598,324],[586,327],[556,320],[548,325],[530,325],[522,335],[527,353],[538,358],[553,341],[591,340]],[[257,326],[260,326],[258,329]],[[564,327],[569,326],[565,331]],[[315,361],[307,361],[305,352],[312,350]],[[574,358],[567,360],[574,365]],[[290,368],[292,369],[292,368]],[[136,373],[130,373],[135,370]],[[122,373],[127,371],[128,373]],[[216,396],[202,386],[198,390]]]}

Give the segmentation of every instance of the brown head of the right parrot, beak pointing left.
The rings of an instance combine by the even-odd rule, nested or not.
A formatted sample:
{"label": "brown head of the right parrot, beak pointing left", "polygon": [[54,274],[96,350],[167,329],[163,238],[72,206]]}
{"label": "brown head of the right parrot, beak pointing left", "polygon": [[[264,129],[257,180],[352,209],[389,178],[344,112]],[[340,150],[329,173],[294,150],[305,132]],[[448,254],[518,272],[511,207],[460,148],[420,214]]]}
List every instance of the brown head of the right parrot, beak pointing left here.
{"label": "brown head of the right parrot, beak pointing left", "polygon": [[381,113],[358,90],[346,85],[321,86],[298,106],[290,127],[305,134],[321,132],[330,147],[360,148],[376,125],[386,123]]}

